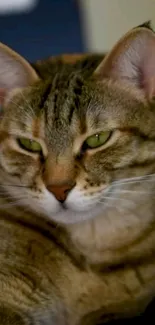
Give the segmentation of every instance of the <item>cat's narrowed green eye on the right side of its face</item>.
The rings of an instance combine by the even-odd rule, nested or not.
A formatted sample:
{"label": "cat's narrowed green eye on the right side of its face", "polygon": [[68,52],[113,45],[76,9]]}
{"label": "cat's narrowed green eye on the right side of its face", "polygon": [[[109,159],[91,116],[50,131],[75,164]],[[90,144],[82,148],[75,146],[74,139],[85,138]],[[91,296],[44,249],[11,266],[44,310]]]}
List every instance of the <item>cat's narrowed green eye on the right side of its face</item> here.
{"label": "cat's narrowed green eye on the right side of its face", "polygon": [[88,149],[95,149],[103,144],[105,144],[109,138],[110,138],[111,132],[100,132],[98,134],[94,134],[91,137],[87,138],[86,141],[84,142],[84,145]]}

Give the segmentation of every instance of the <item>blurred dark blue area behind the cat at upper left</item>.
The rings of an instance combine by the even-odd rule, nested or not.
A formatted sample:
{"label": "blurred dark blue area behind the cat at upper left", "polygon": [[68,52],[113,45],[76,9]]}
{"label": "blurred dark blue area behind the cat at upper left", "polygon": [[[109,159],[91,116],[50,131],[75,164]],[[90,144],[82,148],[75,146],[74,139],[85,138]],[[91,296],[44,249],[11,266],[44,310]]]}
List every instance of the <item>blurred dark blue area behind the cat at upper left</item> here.
{"label": "blurred dark blue area behind the cat at upper left", "polygon": [[1,15],[0,41],[30,61],[83,52],[78,5],[75,0],[40,0],[30,13]]}

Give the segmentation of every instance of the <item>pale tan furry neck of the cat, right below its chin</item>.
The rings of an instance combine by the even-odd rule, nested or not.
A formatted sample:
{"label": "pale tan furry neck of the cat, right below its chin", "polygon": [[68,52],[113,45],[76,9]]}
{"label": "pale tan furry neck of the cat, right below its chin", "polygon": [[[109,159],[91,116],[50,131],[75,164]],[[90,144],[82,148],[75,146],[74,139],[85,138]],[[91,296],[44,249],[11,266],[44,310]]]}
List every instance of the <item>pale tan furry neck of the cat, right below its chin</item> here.
{"label": "pale tan furry neck of the cat, right below its chin", "polygon": [[93,220],[67,227],[72,245],[88,264],[133,263],[154,253],[154,208],[148,200],[135,209],[107,209]]}

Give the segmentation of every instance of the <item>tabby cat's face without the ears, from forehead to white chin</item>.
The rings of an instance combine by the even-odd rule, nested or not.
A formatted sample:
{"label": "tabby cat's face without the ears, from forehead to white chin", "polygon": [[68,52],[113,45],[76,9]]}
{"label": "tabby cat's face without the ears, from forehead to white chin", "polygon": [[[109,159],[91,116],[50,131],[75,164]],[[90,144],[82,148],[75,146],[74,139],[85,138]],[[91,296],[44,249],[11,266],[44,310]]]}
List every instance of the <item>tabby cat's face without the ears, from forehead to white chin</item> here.
{"label": "tabby cat's face without the ears, from forehead to white chin", "polygon": [[[145,175],[148,162],[154,165],[155,141],[143,138],[149,109],[128,87],[111,81],[86,82],[79,99],[72,81],[67,97],[57,88],[56,98],[51,83],[45,98],[48,87],[39,82],[6,107],[0,155],[4,188],[50,219],[79,222],[105,210],[107,197],[118,190],[113,182]],[[36,141],[36,152],[19,142],[23,139]]]}

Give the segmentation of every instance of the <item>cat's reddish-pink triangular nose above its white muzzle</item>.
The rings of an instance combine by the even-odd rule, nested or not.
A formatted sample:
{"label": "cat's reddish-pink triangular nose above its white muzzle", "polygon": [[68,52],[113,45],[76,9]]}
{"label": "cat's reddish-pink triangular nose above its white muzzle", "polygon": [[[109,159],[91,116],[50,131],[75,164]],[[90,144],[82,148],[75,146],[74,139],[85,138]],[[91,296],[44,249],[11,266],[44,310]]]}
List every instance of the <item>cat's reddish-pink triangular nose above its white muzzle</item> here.
{"label": "cat's reddish-pink triangular nose above its white muzzle", "polygon": [[72,184],[63,184],[63,185],[47,185],[47,189],[49,192],[54,194],[56,199],[60,202],[64,202],[67,198],[68,193],[71,191],[71,189],[74,187]]}

